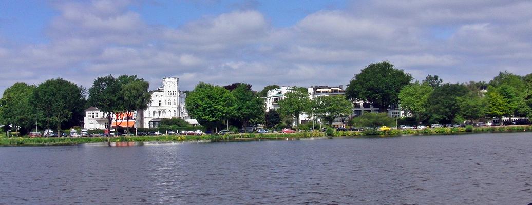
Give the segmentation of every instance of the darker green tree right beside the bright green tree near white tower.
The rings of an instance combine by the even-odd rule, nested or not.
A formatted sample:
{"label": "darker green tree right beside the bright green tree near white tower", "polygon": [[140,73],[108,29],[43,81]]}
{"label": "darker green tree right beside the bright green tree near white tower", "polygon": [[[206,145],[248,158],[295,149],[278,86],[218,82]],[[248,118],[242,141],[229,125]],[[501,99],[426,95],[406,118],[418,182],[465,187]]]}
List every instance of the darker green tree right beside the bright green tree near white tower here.
{"label": "darker green tree right beside the bright green tree near white tower", "polygon": [[250,119],[264,115],[264,100],[251,91],[251,86],[240,83],[231,95],[235,99],[235,117],[243,122],[243,129],[246,129]]}

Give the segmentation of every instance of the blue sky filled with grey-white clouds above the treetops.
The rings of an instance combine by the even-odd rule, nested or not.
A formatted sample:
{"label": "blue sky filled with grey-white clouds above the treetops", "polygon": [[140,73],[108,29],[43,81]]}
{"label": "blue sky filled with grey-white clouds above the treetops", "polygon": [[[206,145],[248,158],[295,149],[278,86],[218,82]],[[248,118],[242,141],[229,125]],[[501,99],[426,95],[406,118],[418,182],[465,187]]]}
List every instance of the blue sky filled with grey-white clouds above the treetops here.
{"label": "blue sky filled with grey-white clouds above the treetops", "polygon": [[421,80],[532,73],[532,1],[3,1],[0,93],[14,82],[136,74],[203,81],[347,84],[390,61]]}

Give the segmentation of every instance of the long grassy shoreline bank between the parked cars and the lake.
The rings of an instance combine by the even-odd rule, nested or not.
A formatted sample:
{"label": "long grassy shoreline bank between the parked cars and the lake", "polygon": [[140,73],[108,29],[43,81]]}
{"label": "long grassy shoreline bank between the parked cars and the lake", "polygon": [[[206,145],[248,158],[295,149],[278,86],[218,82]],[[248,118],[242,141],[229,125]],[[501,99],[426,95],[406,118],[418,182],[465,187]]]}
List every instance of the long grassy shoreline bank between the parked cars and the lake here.
{"label": "long grassy shoreline bank between the parked cars and the lake", "polygon": [[323,132],[297,133],[243,133],[234,135],[162,135],[162,136],[120,136],[116,138],[0,138],[0,147],[19,146],[72,146],[77,144],[107,144],[110,147],[149,145],[159,143],[216,143],[216,142],[261,142],[296,141],[353,138],[390,138],[396,136],[461,135],[476,133],[532,132],[532,126],[475,127],[471,131],[463,127],[446,127],[424,130],[383,131],[335,131],[332,136]]}

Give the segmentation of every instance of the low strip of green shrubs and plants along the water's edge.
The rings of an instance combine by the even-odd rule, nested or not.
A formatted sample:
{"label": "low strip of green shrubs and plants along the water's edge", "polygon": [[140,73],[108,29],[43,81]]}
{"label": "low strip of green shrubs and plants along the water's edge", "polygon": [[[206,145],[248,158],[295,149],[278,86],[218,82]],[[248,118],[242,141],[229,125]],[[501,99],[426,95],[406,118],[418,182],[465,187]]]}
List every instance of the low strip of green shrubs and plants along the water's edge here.
{"label": "low strip of green shrubs and plants along the water's edge", "polygon": [[375,137],[375,136],[400,136],[400,135],[432,135],[432,134],[460,134],[460,133],[508,133],[508,132],[530,132],[532,126],[492,126],[492,127],[441,127],[423,130],[390,130],[390,131],[335,131],[325,132],[297,132],[297,133],[268,133],[268,134],[230,134],[230,135],[161,135],[161,136],[120,136],[116,138],[94,137],[94,138],[5,138],[0,137],[2,146],[24,146],[24,145],[63,145],[78,143],[105,143],[105,142],[186,142],[186,141],[211,141],[211,142],[231,142],[231,141],[259,141],[259,140],[298,140],[301,138],[335,138],[347,137]]}

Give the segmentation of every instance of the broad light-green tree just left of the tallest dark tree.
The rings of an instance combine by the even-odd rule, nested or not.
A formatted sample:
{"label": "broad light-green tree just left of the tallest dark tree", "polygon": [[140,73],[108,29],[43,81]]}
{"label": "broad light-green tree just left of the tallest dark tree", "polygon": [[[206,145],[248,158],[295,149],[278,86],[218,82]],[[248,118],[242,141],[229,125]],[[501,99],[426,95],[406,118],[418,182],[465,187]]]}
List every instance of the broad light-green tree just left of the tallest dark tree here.
{"label": "broad light-green tree just left of the tallest dark tree", "polygon": [[353,104],[340,95],[317,97],[312,100],[312,113],[332,126],[336,118],[353,113]]}

